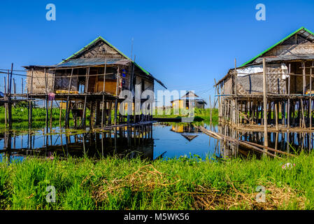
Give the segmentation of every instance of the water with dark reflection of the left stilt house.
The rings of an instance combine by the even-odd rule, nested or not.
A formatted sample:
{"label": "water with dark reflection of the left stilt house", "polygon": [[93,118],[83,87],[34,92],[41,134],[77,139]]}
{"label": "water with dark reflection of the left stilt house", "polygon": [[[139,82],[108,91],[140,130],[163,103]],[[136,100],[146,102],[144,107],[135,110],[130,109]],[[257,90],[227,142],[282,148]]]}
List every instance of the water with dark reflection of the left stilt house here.
{"label": "water with dark reflection of the left stilt house", "polygon": [[107,132],[55,128],[48,134],[40,130],[28,133],[11,131],[0,135],[0,153],[10,160],[22,160],[27,156],[51,158],[52,155],[90,158],[140,156],[152,160],[153,146],[152,125],[116,127]]}

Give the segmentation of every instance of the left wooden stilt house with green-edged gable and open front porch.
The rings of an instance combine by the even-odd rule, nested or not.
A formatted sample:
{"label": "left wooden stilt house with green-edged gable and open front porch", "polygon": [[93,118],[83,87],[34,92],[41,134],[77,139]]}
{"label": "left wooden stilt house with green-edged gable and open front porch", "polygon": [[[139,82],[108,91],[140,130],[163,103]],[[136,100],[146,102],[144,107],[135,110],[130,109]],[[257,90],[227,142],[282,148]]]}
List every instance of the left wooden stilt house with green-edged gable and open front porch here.
{"label": "left wooden stilt house with green-edged gable and open front porch", "polygon": [[[132,59],[117,50],[99,36],[84,48],[74,53],[59,64],[53,66],[24,66],[27,69],[27,95],[31,108],[32,99],[44,99],[48,110],[48,101],[59,101],[58,106],[66,109],[66,126],[69,126],[69,113],[72,111],[76,124],[81,120],[81,127],[86,125],[86,109],[90,109],[90,125],[95,127],[111,124],[111,111],[115,109],[114,123],[119,123],[124,116],[117,118],[117,108],[123,99],[119,98],[122,90],[130,90],[133,95],[135,86],[141,86],[141,92],[154,90],[154,81],[164,86],[151,73],[143,69]],[[164,86],[165,87],[165,86]],[[144,99],[143,99],[144,100]],[[133,105],[134,106],[134,105]],[[60,112],[60,116],[61,116]],[[31,119],[31,110],[30,110]],[[136,116],[132,122],[143,120]],[[145,117],[144,120],[150,120]],[[31,123],[31,120],[29,120]]]}

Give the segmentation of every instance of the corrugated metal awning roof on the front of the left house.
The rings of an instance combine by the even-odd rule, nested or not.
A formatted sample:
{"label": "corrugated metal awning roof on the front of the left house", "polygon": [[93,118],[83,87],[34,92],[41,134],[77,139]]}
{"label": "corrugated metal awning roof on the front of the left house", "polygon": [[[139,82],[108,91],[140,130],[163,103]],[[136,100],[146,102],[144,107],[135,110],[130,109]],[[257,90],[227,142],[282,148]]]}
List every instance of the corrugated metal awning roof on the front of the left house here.
{"label": "corrugated metal awning roof on the front of the left house", "polygon": [[68,68],[68,67],[78,67],[78,66],[97,66],[104,64],[128,64],[131,62],[129,59],[120,58],[78,58],[71,59],[68,62],[58,64],[57,68]]}

